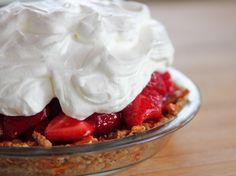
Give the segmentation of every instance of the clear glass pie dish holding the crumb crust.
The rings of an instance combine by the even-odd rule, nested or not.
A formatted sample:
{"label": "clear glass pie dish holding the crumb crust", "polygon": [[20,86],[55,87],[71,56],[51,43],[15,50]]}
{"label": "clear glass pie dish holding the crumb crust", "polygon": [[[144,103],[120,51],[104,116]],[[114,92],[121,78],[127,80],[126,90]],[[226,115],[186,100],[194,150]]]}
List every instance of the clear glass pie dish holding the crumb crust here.
{"label": "clear glass pie dish holding the crumb crust", "polygon": [[169,71],[176,84],[190,91],[187,104],[173,120],[140,134],[97,144],[51,149],[0,147],[0,175],[109,175],[150,158],[175,131],[193,119],[201,103],[196,85],[180,71],[174,68]]}

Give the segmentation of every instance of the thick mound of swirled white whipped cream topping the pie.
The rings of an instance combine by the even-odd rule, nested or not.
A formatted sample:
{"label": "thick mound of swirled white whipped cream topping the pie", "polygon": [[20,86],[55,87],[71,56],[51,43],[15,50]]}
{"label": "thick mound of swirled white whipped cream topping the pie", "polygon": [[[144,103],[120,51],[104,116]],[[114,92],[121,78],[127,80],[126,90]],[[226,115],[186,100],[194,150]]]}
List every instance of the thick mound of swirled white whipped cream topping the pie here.
{"label": "thick mound of swirled white whipped cream topping the pie", "polygon": [[131,103],[174,49],[147,6],[41,0],[0,9],[0,113],[30,116],[54,97],[84,120]]}

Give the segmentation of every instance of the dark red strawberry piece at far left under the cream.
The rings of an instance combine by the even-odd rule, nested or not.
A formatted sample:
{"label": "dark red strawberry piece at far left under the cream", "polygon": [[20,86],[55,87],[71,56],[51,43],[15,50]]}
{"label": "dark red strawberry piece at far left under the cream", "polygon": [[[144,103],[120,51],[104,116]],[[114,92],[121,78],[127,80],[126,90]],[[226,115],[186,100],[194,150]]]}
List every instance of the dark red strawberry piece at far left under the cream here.
{"label": "dark red strawberry piece at far left under the cream", "polygon": [[29,117],[8,117],[4,116],[3,127],[4,127],[4,138],[14,139],[21,135],[23,132],[34,127],[36,124],[41,122],[43,119],[48,117],[47,109],[39,112],[36,115]]}

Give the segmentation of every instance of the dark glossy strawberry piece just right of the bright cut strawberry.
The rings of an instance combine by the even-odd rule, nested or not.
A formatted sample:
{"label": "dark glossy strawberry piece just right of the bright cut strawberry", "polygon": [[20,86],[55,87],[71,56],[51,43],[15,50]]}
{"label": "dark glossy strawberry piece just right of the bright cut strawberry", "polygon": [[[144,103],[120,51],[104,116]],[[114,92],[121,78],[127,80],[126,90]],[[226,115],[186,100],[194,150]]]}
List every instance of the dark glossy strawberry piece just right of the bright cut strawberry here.
{"label": "dark glossy strawberry piece just right of the bright cut strawberry", "polygon": [[95,113],[87,119],[95,126],[94,135],[103,136],[116,129],[118,129],[123,122],[121,114],[111,113],[111,114],[98,114]]}

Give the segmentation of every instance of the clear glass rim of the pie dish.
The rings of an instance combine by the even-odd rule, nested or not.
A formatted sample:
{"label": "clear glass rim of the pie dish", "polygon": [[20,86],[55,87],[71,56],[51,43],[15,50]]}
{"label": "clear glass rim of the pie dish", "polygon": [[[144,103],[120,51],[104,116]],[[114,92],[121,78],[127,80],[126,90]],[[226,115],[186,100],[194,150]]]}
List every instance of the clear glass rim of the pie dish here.
{"label": "clear glass rim of the pie dish", "polygon": [[171,73],[173,80],[178,85],[184,86],[185,88],[189,89],[190,94],[188,96],[188,103],[185,105],[185,107],[178,113],[178,115],[173,120],[170,120],[164,125],[137,135],[132,135],[122,139],[116,139],[97,144],[55,146],[50,149],[42,147],[0,147],[0,157],[46,157],[52,155],[61,156],[96,153],[142,144],[145,142],[153,141],[155,139],[159,139],[169,133],[173,133],[174,131],[185,126],[194,118],[200,108],[201,96],[198,87],[189,77],[187,77],[185,74],[173,67],[169,68],[169,72]]}

